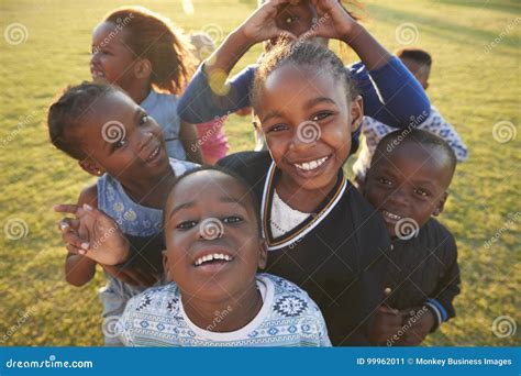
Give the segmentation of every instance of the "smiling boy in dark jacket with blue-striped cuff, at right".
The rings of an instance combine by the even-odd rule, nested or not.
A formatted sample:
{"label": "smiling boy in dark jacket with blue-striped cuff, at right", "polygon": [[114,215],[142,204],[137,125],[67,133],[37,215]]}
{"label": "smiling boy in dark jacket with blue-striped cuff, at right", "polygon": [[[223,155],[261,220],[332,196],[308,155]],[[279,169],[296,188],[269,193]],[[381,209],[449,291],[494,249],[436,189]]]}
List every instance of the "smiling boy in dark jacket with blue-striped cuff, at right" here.
{"label": "smiling boy in dark jacket with blue-striped cuff, at right", "polygon": [[432,218],[443,211],[455,166],[454,151],[428,131],[389,133],[376,148],[364,195],[392,239],[387,298],[372,331],[376,344],[419,345],[455,316],[457,247]]}

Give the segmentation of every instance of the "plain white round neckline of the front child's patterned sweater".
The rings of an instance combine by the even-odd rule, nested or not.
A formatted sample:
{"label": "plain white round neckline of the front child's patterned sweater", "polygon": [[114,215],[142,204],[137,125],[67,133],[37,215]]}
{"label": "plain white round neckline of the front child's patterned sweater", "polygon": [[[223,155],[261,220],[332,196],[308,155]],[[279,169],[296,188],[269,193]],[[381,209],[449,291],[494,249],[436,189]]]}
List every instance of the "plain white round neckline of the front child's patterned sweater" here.
{"label": "plain white round neckline of the front child's patterned sweater", "polygon": [[234,341],[234,340],[244,340],[247,334],[253,332],[257,329],[263,321],[268,317],[271,306],[274,302],[275,297],[275,286],[273,281],[262,275],[256,276],[255,283],[257,284],[258,289],[260,290],[260,295],[263,297],[263,306],[255,318],[250,321],[246,325],[241,329],[237,329],[233,332],[212,332],[196,325],[188,314],[185,311],[185,307],[182,305],[182,299],[179,298],[179,310],[181,312],[182,319],[187,323],[188,328],[190,328],[196,335],[201,336],[207,340],[211,341]]}

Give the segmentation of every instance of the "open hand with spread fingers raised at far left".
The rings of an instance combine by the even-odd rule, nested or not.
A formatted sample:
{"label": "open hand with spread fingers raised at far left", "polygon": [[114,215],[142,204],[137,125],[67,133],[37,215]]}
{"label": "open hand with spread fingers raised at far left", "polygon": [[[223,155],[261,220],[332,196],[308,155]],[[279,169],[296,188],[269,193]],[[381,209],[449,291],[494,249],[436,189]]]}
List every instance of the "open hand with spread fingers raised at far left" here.
{"label": "open hand with spread fingers raised at far left", "polygon": [[129,257],[129,242],[115,221],[102,211],[88,204],[58,204],[54,210],[76,215],[76,219],[66,218],[58,223],[70,253],[104,265],[121,264]]}

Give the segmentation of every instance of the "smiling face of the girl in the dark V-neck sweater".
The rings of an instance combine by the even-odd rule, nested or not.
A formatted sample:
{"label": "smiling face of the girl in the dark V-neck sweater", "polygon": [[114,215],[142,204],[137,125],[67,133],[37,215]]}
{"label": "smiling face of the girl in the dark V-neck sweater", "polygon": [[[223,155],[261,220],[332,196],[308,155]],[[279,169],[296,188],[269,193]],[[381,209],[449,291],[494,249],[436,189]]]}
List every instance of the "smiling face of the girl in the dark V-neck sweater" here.
{"label": "smiling face of the girl in the dark V-neck sweater", "polygon": [[271,157],[293,189],[329,192],[362,119],[362,99],[330,73],[285,65],[260,88],[257,115]]}

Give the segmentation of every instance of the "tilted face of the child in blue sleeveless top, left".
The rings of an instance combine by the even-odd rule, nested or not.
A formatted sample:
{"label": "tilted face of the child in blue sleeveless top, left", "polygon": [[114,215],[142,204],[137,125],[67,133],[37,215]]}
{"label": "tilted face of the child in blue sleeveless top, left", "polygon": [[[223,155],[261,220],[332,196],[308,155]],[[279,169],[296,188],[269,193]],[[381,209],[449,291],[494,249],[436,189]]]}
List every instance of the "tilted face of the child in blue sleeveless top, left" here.
{"label": "tilted face of the child in blue sleeveless top, left", "polygon": [[108,173],[125,185],[165,176],[169,168],[159,125],[126,95],[101,97],[76,132],[87,158],[81,167],[93,175]]}

